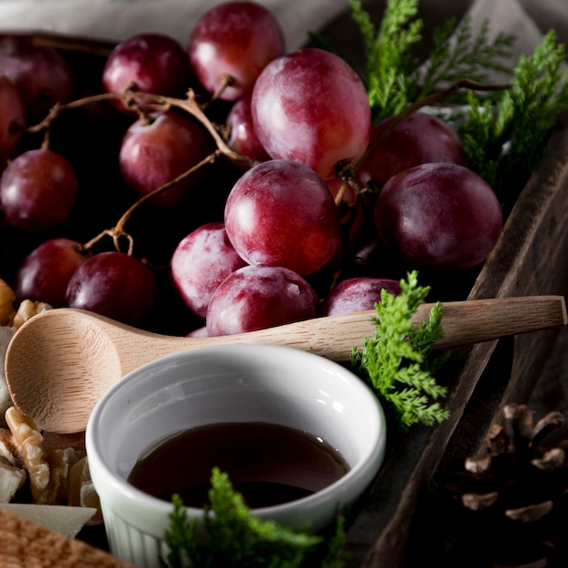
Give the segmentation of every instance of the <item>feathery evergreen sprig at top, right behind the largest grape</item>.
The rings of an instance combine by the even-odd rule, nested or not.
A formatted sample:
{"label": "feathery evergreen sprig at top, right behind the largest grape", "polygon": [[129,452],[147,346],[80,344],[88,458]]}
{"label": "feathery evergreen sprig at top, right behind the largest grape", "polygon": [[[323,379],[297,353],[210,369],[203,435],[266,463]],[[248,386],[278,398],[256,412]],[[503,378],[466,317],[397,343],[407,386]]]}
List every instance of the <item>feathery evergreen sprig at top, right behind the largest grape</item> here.
{"label": "feathery evergreen sprig at top, right behind the largest grape", "polygon": [[514,36],[489,40],[489,22],[474,34],[469,16],[460,24],[446,20],[434,31],[426,64],[411,52],[422,40],[418,0],[388,0],[377,27],[358,0],[349,0],[351,15],[365,45],[364,82],[374,122],[402,113],[411,103],[467,78],[484,82],[490,70],[508,72]]}

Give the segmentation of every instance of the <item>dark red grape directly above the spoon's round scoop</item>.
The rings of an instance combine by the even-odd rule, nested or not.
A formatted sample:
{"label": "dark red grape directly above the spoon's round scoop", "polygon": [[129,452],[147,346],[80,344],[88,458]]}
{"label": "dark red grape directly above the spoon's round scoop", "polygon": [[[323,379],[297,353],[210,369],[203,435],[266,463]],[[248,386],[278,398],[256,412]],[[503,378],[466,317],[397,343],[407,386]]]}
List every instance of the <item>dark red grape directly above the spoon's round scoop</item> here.
{"label": "dark red grape directly above the spoon's round scoop", "polygon": [[21,262],[15,274],[15,299],[46,302],[63,308],[67,284],[91,254],[76,240],[58,237],[45,240]]}

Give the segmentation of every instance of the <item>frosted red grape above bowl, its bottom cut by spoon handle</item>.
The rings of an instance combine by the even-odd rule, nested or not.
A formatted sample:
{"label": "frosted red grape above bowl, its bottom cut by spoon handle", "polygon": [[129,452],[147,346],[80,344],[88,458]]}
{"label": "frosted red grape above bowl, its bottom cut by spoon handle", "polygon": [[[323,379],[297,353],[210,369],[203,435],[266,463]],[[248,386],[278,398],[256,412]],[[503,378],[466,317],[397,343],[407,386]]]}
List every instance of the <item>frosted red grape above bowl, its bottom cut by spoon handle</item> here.
{"label": "frosted red grape above bowl, its bottom cut by spoon handle", "polygon": [[316,317],[318,296],[282,267],[246,266],[223,280],[207,310],[210,337],[244,333]]}

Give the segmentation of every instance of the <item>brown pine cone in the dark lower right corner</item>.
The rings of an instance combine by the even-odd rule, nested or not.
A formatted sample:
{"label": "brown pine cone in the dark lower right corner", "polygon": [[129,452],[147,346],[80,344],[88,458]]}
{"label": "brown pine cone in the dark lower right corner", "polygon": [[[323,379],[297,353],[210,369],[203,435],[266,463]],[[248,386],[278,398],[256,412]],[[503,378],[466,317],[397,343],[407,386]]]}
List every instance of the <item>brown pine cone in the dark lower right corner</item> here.
{"label": "brown pine cone in the dark lower right corner", "polygon": [[568,439],[544,445],[563,424],[558,412],[534,424],[526,406],[505,406],[484,451],[441,472],[448,566],[568,566]]}

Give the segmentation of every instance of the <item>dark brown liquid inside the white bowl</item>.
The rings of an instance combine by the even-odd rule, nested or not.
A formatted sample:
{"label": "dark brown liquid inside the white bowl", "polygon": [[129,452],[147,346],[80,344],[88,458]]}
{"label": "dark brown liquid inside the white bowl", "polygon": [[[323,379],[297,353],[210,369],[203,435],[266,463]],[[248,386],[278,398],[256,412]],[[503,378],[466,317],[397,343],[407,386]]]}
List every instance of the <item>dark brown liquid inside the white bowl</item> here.
{"label": "dark brown liquid inside the white bowl", "polygon": [[318,436],[274,424],[199,426],[152,447],[134,465],[129,483],[145,493],[186,506],[209,503],[211,470],[229,475],[250,508],[282,504],[331,485],[349,465]]}

